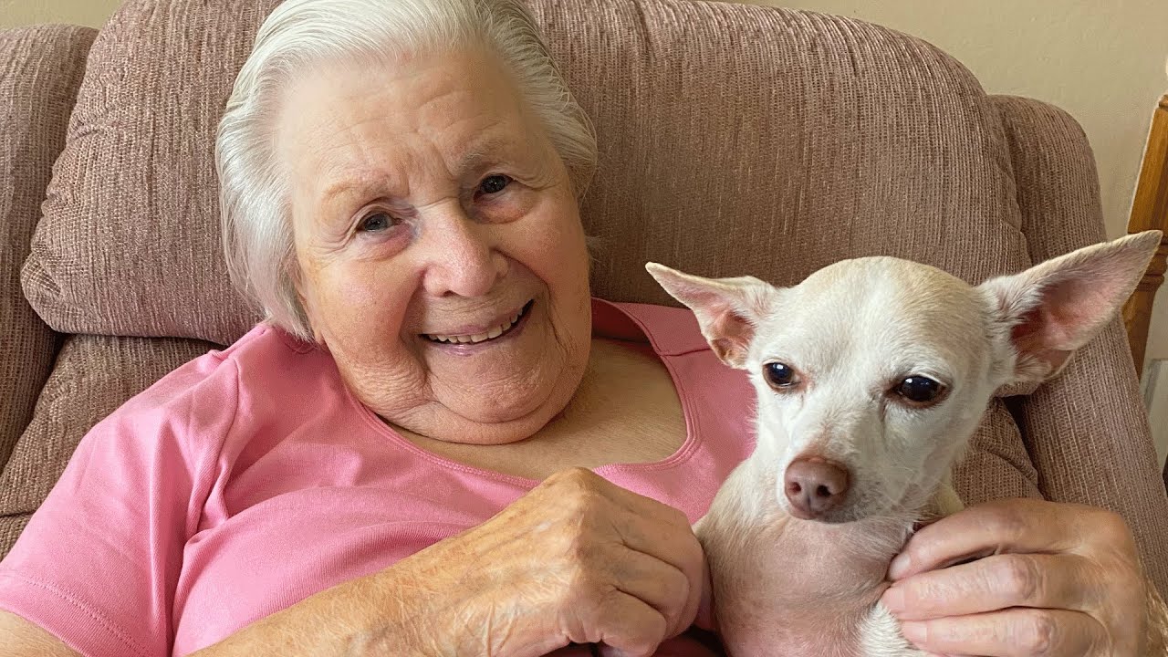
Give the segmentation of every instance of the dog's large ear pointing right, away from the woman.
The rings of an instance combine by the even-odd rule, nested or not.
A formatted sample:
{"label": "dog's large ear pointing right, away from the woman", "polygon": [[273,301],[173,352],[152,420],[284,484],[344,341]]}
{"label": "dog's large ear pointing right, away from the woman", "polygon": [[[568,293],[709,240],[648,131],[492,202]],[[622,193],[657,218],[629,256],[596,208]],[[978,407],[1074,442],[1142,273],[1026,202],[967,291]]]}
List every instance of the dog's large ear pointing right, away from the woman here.
{"label": "dog's large ear pointing right, away from the woman", "polygon": [[1002,383],[1058,374],[1119,312],[1160,237],[1159,230],[1128,235],[982,283],[997,328]]}

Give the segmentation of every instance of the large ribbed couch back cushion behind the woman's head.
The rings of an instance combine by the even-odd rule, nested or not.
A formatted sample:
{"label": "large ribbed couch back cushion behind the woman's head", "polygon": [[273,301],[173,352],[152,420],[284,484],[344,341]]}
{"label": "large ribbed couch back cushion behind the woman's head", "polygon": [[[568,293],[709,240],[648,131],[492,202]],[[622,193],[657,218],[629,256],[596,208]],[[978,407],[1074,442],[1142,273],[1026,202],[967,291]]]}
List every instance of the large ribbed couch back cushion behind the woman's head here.
{"label": "large ribbed couch back cushion behind the woman's head", "polygon": [[[25,269],[51,326],[230,343],[253,323],[222,261],[213,144],[274,4],[130,0],[102,30]],[[934,48],[769,7],[533,7],[599,132],[598,296],[672,303],[647,260],[779,283],[867,254],[971,279],[1028,263],[996,115]]]}

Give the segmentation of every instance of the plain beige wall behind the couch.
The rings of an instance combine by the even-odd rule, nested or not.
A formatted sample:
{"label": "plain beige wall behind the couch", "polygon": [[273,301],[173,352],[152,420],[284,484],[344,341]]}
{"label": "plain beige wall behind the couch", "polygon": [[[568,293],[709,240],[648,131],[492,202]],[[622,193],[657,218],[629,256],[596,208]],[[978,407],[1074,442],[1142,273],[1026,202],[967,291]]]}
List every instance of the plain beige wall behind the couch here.
{"label": "plain beige wall behind the couch", "polygon": [[[987,91],[1059,105],[1096,150],[1111,236],[1124,233],[1155,99],[1168,88],[1164,0],[745,0],[844,14],[915,34],[947,50]],[[0,26],[98,26],[117,0],[0,0]],[[1168,291],[1149,357],[1168,358]]]}

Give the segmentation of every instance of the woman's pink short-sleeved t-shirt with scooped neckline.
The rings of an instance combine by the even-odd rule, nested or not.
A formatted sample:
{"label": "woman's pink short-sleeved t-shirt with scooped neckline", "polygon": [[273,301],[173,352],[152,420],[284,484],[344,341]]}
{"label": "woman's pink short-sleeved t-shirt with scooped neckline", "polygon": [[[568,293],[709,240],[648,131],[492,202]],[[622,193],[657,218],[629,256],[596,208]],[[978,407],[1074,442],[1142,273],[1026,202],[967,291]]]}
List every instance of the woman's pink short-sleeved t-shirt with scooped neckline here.
{"label": "woman's pink short-sleeved t-shirt with scooped neckline", "polygon": [[[752,448],[746,378],[688,311],[593,312],[597,336],[648,339],[688,428],[665,461],[596,471],[694,521]],[[478,525],[536,484],[415,447],[349,395],[327,354],[260,325],[82,440],[0,562],[0,608],[86,656],[186,655]],[[683,635],[658,655],[711,652]]]}

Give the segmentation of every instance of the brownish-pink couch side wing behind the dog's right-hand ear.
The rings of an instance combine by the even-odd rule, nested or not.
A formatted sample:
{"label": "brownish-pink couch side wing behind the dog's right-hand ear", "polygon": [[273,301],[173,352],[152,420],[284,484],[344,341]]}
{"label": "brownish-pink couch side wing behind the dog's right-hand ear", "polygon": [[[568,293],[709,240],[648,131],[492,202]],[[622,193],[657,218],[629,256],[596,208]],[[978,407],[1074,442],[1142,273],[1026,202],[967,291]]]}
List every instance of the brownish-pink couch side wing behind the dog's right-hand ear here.
{"label": "brownish-pink couch side wing behind the dog's right-hand ear", "polygon": [[[1037,101],[993,99],[1010,147],[1031,260],[1103,241],[1099,178],[1079,125]],[[1120,513],[1148,576],[1168,592],[1168,495],[1122,323],[1113,321],[1061,376],[1016,397],[1011,410],[1043,496]]]}

